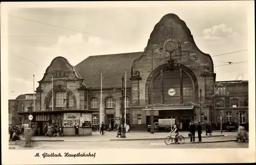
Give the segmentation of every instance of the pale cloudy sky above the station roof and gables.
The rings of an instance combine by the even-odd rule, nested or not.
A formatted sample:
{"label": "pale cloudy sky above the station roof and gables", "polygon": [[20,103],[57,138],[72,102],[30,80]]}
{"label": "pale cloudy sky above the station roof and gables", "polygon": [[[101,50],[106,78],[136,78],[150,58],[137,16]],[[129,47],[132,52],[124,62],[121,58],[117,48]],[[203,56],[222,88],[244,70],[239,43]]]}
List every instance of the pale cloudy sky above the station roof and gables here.
{"label": "pale cloudy sky above the station roof and gables", "polygon": [[[33,75],[36,88],[57,56],[76,65],[94,55],[143,52],[154,26],[168,13],[185,21],[202,52],[225,54],[212,57],[217,81],[248,80],[249,55],[243,51],[248,50],[248,5],[207,1],[13,8],[4,36],[8,38],[8,98],[32,93]],[[228,61],[241,63],[225,65]]]}

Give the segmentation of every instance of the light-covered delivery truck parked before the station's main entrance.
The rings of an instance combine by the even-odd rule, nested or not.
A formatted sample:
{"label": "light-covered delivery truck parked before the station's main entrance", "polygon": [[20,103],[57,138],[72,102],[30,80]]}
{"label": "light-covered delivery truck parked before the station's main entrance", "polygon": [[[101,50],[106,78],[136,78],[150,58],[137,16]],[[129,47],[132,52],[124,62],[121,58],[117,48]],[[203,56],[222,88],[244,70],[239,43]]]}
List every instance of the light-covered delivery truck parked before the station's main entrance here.
{"label": "light-covered delivery truck parked before the station's main entrance", "polygon": [[[155,132],[170,132],[175,125],[175,119],[158,119],[158,122],[154,123]],[[147,125],[147,132],[151,131],[151,125]]]}

